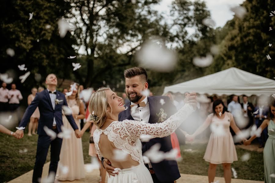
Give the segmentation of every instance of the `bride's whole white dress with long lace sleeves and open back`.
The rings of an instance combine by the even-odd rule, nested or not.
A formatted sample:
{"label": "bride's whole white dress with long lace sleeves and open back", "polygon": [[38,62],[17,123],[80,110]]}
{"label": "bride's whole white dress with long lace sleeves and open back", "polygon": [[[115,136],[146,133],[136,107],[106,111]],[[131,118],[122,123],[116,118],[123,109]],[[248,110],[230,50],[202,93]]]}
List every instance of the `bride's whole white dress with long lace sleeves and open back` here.
{"label": "bride's whole white dress with long lace sleeves and open back", "polygon": [[119,170],[118,175],[108,178],[108,183],[135,182],[133,179],[138,180],[136,182],[139,183],[152,183],[151,174],[143,162],[140,136],[145,134],[151,135],[152,138],[161,138],[171,135],[193,111],[190,104],[185,104],[177,113],[162,123],[145,124],[134,120],[123,120],[122,122],[112,122],[105,130],[96,129],[94,131],[94,144],[100,160],[102,154],[98,143],[100,135],[104,133],[117,149],[130,154],[131,158],[139,163],[136,167]]}

